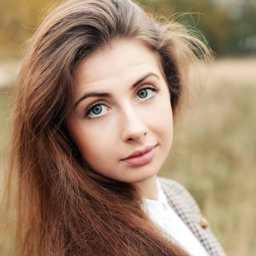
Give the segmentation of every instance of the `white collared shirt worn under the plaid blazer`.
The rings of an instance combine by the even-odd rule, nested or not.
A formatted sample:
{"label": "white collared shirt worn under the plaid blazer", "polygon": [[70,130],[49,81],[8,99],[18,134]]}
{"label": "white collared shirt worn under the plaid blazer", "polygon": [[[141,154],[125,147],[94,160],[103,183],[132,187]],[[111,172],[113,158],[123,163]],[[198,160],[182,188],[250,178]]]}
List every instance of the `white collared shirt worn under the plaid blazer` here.
{"label": "white collared shirt worn under the plaid blazer", "polygon": [[148,212],[151,220],[166,230],[191,256],[209,256],[201,242],[169,205],[159,180],[157,180],[157,192],[157,200],[143,198],[144,210]]}

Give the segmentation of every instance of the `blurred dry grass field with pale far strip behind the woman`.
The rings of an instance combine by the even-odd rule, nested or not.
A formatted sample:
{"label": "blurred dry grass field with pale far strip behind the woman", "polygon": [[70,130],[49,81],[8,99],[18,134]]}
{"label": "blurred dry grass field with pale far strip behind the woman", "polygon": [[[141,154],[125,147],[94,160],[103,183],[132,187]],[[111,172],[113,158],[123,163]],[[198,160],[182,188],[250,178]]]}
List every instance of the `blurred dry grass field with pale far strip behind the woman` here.
{"label": "blurred dry grass field with pale far strip behind the woman", "polygon": [[[253,256],[256,59],[217,60],[207,85],[194,111],[184,116],[189,122],[175,131],[172,150],[160,176],[179,181],[192,193],[229,256]],[[1,156],[8,97],[0,93]]]}

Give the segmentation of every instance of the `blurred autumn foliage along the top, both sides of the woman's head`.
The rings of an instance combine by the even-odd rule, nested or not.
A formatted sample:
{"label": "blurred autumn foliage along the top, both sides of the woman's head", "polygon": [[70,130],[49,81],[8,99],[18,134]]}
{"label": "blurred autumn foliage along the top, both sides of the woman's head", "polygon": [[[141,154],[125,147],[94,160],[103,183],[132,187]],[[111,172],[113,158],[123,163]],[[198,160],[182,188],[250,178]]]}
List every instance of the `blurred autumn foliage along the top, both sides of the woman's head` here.
{"label": "blurred autumn foliage along the top, both sides of the woman's head", "polygon": [[[255,0],[134,0],[147,11],[169,17],[190,12],[180,22],[199,29],[217,57],[256,53]],[[0,57],[17,58],[33,29],[60,1],[12,0],[0,3]]]}

